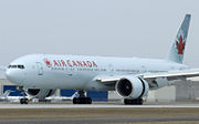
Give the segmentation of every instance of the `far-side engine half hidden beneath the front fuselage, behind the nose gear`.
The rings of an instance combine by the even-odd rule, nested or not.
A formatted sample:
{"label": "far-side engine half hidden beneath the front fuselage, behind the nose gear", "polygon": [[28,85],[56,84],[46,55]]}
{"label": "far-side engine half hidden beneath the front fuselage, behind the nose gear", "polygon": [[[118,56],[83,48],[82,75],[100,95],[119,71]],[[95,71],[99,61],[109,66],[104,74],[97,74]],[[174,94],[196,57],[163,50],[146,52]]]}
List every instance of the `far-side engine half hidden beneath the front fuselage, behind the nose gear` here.
{"label": "far-side engine half hidden beneath the front fuselage, behind the nose gear", "polygon": [[49,89],[28,89],[25,93],[30,96],[44,100],[45,97],[52,96],[56,90]]}

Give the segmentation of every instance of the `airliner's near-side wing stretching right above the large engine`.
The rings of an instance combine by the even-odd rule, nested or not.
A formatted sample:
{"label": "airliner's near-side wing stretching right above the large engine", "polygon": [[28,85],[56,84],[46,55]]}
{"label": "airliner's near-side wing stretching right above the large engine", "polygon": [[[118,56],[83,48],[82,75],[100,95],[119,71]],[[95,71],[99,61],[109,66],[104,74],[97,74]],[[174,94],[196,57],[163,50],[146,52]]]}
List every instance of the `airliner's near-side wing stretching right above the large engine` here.
{"label": "airliner's near-side wing stretching right above the large engine", "polygon": [[[101,78],[96,78],[96,81],[104,84],[113,84],[113,83],[116,83],[119,79],[125,78],[125,76],[126,75],[101,76]],[[186,80],[187,78],[199,76],[199,69],[160,72],[160,73],[143,73],[143,74],[137,74],[137,75],[128,74],[127,76],[137,76],[146,81],[153,81],[156,79],[167,79],[167,81]]]}

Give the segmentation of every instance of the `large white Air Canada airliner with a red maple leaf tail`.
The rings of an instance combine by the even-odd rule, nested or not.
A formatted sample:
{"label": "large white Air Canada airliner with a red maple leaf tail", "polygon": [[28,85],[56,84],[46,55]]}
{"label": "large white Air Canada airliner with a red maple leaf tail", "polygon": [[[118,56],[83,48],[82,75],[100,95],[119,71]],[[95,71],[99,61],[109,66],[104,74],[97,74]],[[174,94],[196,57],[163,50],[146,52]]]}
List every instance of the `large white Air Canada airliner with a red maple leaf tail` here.
{"label": "large white Air Canada airliner with a red maple leaf tail", "polygon": [[78,91],[73,104],[92,104],[86,91],[116,91],[124,104],[142,105],[149,90],[199,76],[184,64],[190,14],[186,14],[165,59],[28,54],[10,63],[7,79],[28,94],[50,96],[56,89]]}

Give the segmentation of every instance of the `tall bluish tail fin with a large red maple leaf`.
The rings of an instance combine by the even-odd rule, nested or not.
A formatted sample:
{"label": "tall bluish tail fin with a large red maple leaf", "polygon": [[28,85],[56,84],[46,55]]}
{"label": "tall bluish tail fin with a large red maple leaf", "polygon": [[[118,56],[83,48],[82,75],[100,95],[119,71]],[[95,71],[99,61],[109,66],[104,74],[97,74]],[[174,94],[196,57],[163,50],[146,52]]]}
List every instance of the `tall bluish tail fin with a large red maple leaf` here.
{"label": "tall bluish tail fin with a large red maple leaf", "polygon": [[167,58],[168,61],[182,63],[190,19],[191,19],[191,16],[186,14],[184,22],[181,23],[181,27],[178,30],[175,42],[172,43],[170,48],[170,51]]}

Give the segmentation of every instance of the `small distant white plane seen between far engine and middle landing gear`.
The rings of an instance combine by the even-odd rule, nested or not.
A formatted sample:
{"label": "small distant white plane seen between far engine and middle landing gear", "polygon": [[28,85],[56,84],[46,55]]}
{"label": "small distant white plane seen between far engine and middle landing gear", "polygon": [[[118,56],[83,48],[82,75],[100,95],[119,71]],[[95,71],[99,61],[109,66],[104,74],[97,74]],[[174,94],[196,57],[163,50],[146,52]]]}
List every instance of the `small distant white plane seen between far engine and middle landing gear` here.
{"label": "small distant white plane seen between far engine and middle landing gear", "polygon": [[75,92],[72,96],[49,96],[49,97],[45,97],[45,100],[61,102],[61,101],[73,101],[74,97],[78,97],[77,92]]}

